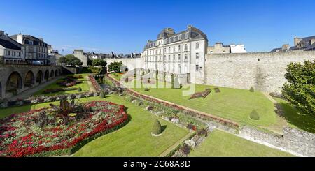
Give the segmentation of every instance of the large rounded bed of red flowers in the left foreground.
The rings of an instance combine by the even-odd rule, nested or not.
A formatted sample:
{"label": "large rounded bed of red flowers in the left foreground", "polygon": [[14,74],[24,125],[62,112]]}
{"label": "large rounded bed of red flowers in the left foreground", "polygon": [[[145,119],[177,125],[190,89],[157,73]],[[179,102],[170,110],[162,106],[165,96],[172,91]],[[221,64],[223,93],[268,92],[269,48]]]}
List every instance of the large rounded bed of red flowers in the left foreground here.
{"label": "large rounded bed of red flowers in the left foreground", "polygon": [[121,128],[129,119],[123,105],[82,103],[68,122],[52,108],[0,119],[0,156],[52,156],[73,153],[90,140]]}

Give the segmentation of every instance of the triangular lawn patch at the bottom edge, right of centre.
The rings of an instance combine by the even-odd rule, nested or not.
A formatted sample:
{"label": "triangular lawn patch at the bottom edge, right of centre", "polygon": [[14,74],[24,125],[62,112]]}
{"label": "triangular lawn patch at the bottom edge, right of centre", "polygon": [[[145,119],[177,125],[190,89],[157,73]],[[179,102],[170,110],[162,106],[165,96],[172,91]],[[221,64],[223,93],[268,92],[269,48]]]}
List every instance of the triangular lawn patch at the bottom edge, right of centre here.
{"label": "triangular lawn patch at the bottom edge, right of centre", "polygon": [[190,156],[272,157],[293,155],[245,140],[230,133],[215,130],[202,142],[200,147],[191,151]]}

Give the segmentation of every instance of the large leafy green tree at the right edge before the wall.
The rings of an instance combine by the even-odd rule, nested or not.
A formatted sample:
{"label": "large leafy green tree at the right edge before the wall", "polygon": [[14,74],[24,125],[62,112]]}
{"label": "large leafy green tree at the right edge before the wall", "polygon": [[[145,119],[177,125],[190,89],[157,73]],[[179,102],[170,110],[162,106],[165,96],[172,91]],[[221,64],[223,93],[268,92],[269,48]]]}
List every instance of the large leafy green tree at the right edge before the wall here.
{"label": "large leafy green tree at the right edge before the wall", "polygon": [[283,97],[297,110],[315,116],[315,60],[304,61],[304,65],[291,63],[286,71]]}

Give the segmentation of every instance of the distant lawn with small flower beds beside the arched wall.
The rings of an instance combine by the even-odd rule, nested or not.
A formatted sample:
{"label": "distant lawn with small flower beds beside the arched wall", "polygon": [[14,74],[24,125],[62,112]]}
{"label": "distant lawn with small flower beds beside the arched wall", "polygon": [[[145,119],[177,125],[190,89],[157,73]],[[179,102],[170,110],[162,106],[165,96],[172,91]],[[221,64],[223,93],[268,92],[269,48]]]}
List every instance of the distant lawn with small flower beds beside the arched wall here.
{"label": "distant lawn with small flower beds beside the arched wall", "polygon": [[[75,74],[74,76],[76,76],[76,75],[81,75],[81,76],[83,76],[83,78],[78,79],[78,80],[81,80],[81,81],[83,81],[83,82],[80,83],[80,84],[76,84],[75,86],[69,87],[69,88],[78,88],[78,87],[81,87],[82,92],[84,92],[84,91],[90,91],[90,87],[89,87],[89,85],[87,84],[87,80],[85,79],[85,76],[90,75],[90,74]],[[59,80],[62,80],[62,79],[59,79]],[[59,81],[59,80],[57,80],[57,81]],[[54,82],[54,83],[52,83],[52,84],[49,84],[48,86],[44,87],[44,88],[41,89],[40,91],[37,91],[36,93],[33,94],[33,96],[38,96],[38,95],[52,96],[52,95],[59,95],[59,94],[76,94],[76,93],[78,93],[78,90],[71,90],[71,91],[60,91],[60,92],[52,93],[52,94],[43,94],[43,91],[44,91],[45,89],[64,88],[64,87],[58,85],[58,84],[57,84],[57,81]]]}

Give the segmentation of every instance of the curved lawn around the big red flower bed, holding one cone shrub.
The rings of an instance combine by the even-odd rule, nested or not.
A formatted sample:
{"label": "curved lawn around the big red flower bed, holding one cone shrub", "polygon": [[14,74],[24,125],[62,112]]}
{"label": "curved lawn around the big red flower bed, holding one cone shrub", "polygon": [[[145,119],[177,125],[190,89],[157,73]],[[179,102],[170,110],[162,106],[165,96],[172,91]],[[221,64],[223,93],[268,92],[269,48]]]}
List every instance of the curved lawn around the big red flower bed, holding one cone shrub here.
{"label": "curved lawn around the big red flower bed, holding one cone shrub", "polygon": [[[80,102],[94,100],[100,100],[100,98],[82,98]],[[132,117],[131,121],[118,131],[99,137],[86,144],[74,156],[159,156],[189,133],[188,130],[155,117],[150,112],[125,101],[124,98],[119,96],[109,95],[104,100],[128,107],[127,113]],[[55,102],[55,104],[58,104],[58,102]],[[0,118],[12,113],[27,112],[30,109],[41,107],[48,107],[48,103],[0,110]],[[159,137],[151,136],[151,129],[155,119],[159,119],[162,126],[165,126],[165,131]]]}

